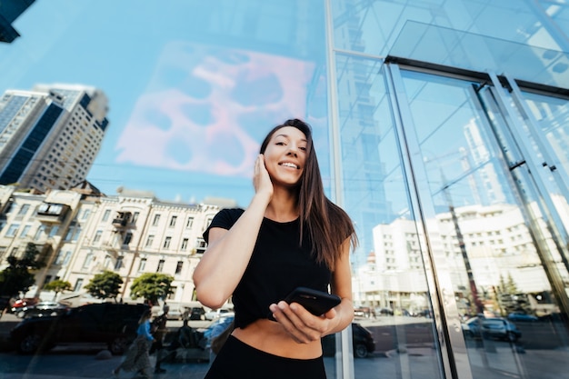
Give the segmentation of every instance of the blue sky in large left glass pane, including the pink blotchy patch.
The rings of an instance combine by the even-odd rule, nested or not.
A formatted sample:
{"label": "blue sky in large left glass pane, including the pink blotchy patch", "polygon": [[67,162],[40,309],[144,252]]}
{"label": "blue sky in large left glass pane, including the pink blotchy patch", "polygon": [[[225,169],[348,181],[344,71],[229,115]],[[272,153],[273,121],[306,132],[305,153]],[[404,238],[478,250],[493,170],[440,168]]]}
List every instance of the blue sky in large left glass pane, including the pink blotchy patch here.
{"label": "blue sky in large left glass pane, including the pink blotchy patch", "polygon": [[[247,39],[239,12],[258,4],[37,0],[13,24],[22,36],[0,45],[0,90],[103,90],[110,125],[87,179],[106,194],[123,186],[162,200],[215,196],[246,206],[260,140],[284,119],[304,118],[322,59],[321,49],[306,48],[310,40],[265,18]],[[286,2],[265,11],[273,6],[282,19]]]}

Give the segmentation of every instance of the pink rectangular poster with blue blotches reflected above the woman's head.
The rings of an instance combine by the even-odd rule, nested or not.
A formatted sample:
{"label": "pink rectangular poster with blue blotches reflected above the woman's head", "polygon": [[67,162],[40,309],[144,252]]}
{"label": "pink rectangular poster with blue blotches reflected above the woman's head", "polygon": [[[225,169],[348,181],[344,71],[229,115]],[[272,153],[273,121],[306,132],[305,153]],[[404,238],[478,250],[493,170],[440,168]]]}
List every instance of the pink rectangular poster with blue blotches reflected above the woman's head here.
{"label": "pink rectangular poster with blue blotches reflected above the woman's head", "polygon": [[118,140],[117,161],[250,175],[266,132],[305,115],[313,71],[283,56],[170,43]]}

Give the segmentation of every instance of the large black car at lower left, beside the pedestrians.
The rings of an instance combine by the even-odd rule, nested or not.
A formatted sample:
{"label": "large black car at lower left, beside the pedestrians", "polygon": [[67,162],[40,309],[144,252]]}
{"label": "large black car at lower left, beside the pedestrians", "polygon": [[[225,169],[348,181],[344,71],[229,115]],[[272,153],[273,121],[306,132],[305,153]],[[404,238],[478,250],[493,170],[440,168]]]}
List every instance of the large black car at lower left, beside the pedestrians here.
{"label": "large black car at lower left, beside the pedestrians", "polygon": [[123,354],[146,309],[146,304],[87,304],[59,316],[25,318],[10,331],[10,341],[22,354],[74,343],[107,344],[112,354]]}

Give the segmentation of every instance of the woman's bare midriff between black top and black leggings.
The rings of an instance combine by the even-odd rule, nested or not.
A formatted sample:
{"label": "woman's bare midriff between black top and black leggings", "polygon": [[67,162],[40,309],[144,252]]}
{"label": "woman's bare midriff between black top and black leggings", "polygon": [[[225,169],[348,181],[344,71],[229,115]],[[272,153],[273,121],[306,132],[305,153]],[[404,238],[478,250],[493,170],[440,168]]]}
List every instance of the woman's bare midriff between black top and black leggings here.
{"label": "woman's bare midriff between black top and black leggings", "polygon": [[261,319],[245,328],[235,328],[232,335],[239,341],[268,354],[294,359],[314,359],[322,355],[320,340],[298,344],[275,321]]}

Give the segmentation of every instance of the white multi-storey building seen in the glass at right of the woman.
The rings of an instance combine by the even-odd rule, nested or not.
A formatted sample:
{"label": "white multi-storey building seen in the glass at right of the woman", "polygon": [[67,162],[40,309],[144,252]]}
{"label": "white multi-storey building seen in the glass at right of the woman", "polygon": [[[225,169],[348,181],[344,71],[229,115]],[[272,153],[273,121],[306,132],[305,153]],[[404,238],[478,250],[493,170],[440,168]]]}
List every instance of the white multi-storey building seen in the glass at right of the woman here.
{"label": "white multi-storey building seen in the glass at right of the woman", "polygon": [[[508,277],[512,278],[521,294],[550,291],[519,208],[510,204],[472,205],[457,207],[454,213],[461,227],[479,295],[491,293]],[[435,222],[441,232],[439,242],[453,283],[457,284],[456,295],[467,298],[469,280],[452,215],[441,213],[430,222]],[[411,302],[411,295],[426,294],[427,291],[420,238],[422,236],[416,233],[413,220],[397,219],[391,224],[374,227],[374,252],[369,254],[367,264],[354,275],[356,304],[416,310],[417,305]],[[569,277],[565,279],[569,281]]]}

